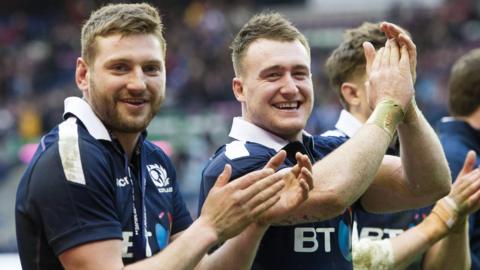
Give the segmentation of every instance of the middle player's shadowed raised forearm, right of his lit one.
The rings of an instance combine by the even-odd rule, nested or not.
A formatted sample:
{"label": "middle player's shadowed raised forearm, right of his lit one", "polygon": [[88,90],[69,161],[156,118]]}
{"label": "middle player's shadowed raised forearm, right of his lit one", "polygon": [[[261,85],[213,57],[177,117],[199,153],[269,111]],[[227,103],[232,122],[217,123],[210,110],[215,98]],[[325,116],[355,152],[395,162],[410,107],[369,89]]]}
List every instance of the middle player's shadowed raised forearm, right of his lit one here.
{"label": "middle player's shadowed raised forearm, right of his lit one", "polygon": [[412,101],[398,125],[401,158],[410,190],[425,205],[448,194],[451,177],[442,146],[432,127]]}

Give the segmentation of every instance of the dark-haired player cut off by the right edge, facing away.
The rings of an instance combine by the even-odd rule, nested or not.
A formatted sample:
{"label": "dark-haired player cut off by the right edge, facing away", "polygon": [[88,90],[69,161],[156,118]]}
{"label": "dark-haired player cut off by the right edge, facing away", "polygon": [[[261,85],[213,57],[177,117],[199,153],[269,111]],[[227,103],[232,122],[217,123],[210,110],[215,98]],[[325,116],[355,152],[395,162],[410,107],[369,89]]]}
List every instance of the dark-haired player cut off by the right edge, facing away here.
{"label": "dark-haired player cut off by the right edge, facing away", "polygon": [[[462,158],[470,150],[480,154],[480,49],[460,57],[452,67],[448,82],[448,107],[451,117],[441,119],[437,125],[452,177],[462,169]],[[477,159],[475,167],[480,166]],[[470,256],[472,269],[480,270],[480,213],[469,218]],[[450,246],[449,241],[442,241]],[[464,247],[458,247],[464,248]],[[441,256],[448,257],[442,253]],[[434,256],[431,258],[434,259]]]}

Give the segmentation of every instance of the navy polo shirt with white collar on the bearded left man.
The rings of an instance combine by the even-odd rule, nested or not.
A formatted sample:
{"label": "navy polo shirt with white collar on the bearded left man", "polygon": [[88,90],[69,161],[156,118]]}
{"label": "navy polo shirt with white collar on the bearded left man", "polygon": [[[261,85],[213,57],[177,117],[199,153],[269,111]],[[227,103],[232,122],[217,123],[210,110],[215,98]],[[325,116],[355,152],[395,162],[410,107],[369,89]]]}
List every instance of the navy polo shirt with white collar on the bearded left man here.
{"label": "navy polo shirt with white collar on the bearded left man", "polygon": [[67,98],[64,117],[41,139],[18,187],[23,269],[63,269],[62,252],[107,239],[122,240],[123,261],[132,263],[191,224],[171,161],[145,134],[128,160],[83,99]]}

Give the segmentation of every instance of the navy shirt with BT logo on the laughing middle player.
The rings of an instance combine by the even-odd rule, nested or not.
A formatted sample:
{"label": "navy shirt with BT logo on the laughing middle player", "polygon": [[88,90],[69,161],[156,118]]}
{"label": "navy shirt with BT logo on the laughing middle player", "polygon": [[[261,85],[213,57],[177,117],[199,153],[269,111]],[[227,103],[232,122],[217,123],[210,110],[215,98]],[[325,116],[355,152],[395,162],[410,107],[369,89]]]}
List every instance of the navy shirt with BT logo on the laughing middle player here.
{"label": "navy shirt with BT logo on the laughing middle player", "polygon": [[[288,154],[281,165],[284,168],[294,166],[296,151],[316,161],[345,141],[304,134],[303,144],[289,143],[242,118],[234,119],[230,137],[235,140],[220,147],[203,171],[199,209],[226,164],[232,166],[231,179],[236,179],[263,168],[282,148]],[[352,223],[353,212],[349,209],[323,222],[271,226],[261,240],[252,269],[352,269]]]}

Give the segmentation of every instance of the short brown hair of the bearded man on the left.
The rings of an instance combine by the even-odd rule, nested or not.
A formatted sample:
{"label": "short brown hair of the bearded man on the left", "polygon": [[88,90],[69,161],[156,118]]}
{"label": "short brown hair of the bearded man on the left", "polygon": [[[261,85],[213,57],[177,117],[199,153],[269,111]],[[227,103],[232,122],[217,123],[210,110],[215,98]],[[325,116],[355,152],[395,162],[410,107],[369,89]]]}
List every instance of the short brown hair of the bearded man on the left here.
{"label": "short brown hair of the bearded man on the left", "polygon": [[87,63],[93,60],[96,37],[113,34],[154,34],[165,55],[166,42],[162,31],[163,24],[157,9],[147,3],[106,5],[92,12],[82,27],[82,58]]}

